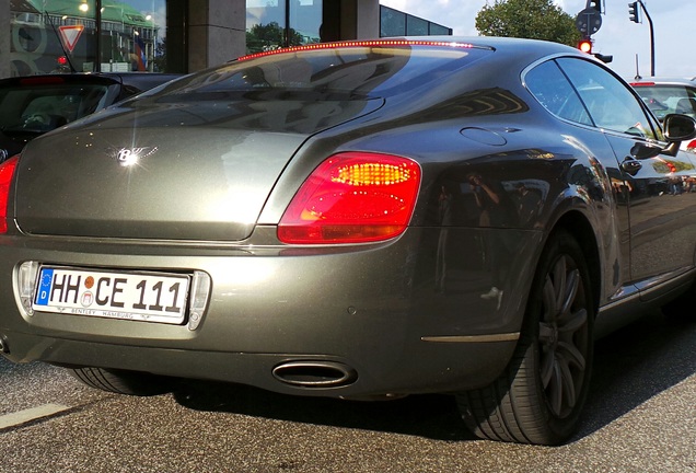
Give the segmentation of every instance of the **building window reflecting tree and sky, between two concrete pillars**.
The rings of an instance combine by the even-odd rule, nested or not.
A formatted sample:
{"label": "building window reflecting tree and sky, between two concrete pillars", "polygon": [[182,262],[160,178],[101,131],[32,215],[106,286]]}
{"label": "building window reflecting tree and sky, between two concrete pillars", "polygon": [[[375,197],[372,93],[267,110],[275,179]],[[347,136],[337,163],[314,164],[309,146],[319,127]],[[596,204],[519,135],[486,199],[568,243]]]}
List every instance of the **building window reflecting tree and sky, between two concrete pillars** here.
{"label": "building window reflecting tree and sky, between two concrete pillars", "polygon": [[323,0],[246,0],[246,51],[321,41]]}

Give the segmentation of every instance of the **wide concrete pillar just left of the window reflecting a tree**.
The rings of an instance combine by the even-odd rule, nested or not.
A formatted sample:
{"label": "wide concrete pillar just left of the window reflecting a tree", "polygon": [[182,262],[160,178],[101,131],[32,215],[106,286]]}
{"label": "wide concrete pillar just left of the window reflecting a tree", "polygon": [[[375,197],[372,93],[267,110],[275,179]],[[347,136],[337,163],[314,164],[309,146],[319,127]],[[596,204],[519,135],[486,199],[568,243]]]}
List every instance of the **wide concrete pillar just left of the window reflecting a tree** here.
{"label": "wide concrete pillar just left of the window reflecting a tree", "polygon": [[188,20],[188,72],[246,53],[246,0],[192,1]]}

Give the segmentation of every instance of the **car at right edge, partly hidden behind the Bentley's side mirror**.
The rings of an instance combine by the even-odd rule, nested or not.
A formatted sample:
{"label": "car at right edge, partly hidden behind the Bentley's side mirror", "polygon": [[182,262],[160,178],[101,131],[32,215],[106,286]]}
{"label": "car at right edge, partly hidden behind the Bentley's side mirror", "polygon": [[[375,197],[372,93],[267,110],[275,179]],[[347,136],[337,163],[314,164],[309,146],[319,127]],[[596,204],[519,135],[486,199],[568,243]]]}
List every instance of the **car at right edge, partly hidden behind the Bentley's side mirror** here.
{"label": "car at right edge, partly hidden behind the Bentley's side mirror", "polygon": [[[671,113],[696,118],[696,78],[647,78],[630,82],[658,119]],[[696,152],[696,140],[685,141],[684,149]]]}

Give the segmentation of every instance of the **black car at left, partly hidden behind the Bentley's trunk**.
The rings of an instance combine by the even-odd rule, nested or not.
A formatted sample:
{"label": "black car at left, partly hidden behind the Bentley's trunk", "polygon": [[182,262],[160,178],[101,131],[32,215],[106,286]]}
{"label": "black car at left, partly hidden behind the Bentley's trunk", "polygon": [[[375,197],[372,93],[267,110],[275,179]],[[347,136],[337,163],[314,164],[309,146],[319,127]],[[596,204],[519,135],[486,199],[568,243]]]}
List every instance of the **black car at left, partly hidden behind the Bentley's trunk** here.
{"label": "black car at left, partly hidden behind the Bentley's trunk", "polygon": [[0,79],[0,161],[39,135],[178,77],[105,72]]}

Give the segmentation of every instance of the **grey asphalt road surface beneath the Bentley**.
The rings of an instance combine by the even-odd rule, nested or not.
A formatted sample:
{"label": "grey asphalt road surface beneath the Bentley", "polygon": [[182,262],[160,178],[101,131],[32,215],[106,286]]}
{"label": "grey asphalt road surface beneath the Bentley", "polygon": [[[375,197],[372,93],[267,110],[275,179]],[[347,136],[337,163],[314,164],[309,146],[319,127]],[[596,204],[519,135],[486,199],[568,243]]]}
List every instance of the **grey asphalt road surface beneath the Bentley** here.
{"label": "grey asphalt road surface beneath the Bentley", "polygon": [[188,381],[128,397],[0,360],[0,472],[689,473],[695,372],[696,321],[656,313],[600,341],[580,431],[548,448],[474,439],[445,395],[361,403]]}

